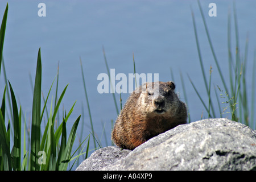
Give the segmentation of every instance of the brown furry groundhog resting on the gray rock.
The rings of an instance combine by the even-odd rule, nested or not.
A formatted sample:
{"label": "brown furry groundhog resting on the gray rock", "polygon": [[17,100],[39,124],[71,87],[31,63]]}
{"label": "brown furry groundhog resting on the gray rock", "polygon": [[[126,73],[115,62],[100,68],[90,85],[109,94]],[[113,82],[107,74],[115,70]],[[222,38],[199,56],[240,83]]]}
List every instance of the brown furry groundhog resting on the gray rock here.
{"label": "brown furry groundhog resting on the gray rock", "polygon": [[146,82],[135,89],[118,115],[113,142],[133,150],[148,139],[187,123],[187,108],[174,92],[174,82]]}

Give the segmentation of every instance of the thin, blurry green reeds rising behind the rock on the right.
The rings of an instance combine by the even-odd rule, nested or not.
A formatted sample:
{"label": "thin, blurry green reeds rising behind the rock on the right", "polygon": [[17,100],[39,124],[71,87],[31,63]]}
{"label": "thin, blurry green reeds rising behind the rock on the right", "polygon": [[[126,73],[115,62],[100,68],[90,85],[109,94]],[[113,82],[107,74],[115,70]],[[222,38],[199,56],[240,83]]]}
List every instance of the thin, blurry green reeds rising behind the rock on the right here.
{"label": "thin, blurry green reeds rising behind the rock on the right", "polygon": [[[210,39],[210,33],[207,27],[207,22],[204,17],[204,13],[200,4],[200,1],[198,1],[199,5],[199,10],[201,13],[201,18],[203,20],[205,32],[207,34],[207,39],[208,43],[210,46],[210,51],[212,52],[212,56],[214,59],[214,63],[217,67],[218,75],[221,78],[221,84],[223,88],[220,88],[218,85],[214,85],[213,88],[215,89],[215,95],[216,95],[216,100],[218,104],[218,108],[221,108],[221,104],[228,104],[228,106],[223,107],[224,110],[221,111],[220,109],[220,117],[222,117],[222,114],[230,114],[230,117],[233,121],[238,121],[245,123],[247,126],[253,127],[253,123],[255,123],[255,118],[254,118],[254,108],[255,108],[255,102],[254,102],[254,96],[255,96],[255,55],[254,55],[254,60],[253,60],[253,69],[252,69],[252,93],[251,93],[251,104],[249,105],[249,100],[247,97],[247,87],[246,83],[248,81],[248,78],[246,77],[246,72],[247,72],[247,54],[248,54],[248,38],[246,39],[245,43],[245,53],[244,56],[241,56],[241,49],[240,49],[240,43],[239,43],[239,36],[238,36],[238,22],[237,22],[237,12],[236,12],[236,5],[233,5],[233,19],[234,19],[234,31],[235,31],[235,36],[236,36],[236,49],[235,49],[235,55],[233,56],[232,53],[232,48],[231,48],[231,14],[229,12],[228,14],[228,61],[227,63],[229,64],[229,79],[227,79],[224,76],[224,73],[221,70],[219,61],[217,59],[217,55],[214,51],[214,47],[212,44],[212,40]],[[214,98],[210,94],[211,90],[211,77],[212,77],[212,68],[210,68],[210,74],[209,74],[209,82],[207,81],[207,76],[205,74],[205,68],[203,65],[203,58],[201,56],[201,51],[200,51],[200,45],[199,45],[199,39],[197,36],[197,28],[196,28],[196,20],[195,20],[195,15],[192,11],[192,20],[193,20],[193,28],[195,32],[195,39],[196,39],[196,46],[197,46],[197,53],[199,55],[199,61],[200,61],[200,66],[201,66],[201,72],[204,78],[204,85],[205,89],[207,92],[208,96],[208,104],[201,98],[199,91],[196,89],[195,83],[192,82],[191,78],[189,77],[189,80],[195,89],[195,92],[197,96],[200,98],[201,103],[205,107],[205,110],[207,110],[208,118],[216,117],[217,115],[215,114],[214,107],[213,107],[213,100]],[[233,59],[235,57],[235,60]],[[229,83],[229,85],[228,85]],[[217,89],[218,88],[218,89]],[[217,90],[216,90],[217,89]],[[225,90],[224,91],[222,90]],[[219,93],[219,94],[217,94]],[[218,97],[225,98],[225,102],[220,103],[220,100]],[[229,108],[230,111],[226,111],[226,109]],[[250,108],[250,109],[249,109]]]}

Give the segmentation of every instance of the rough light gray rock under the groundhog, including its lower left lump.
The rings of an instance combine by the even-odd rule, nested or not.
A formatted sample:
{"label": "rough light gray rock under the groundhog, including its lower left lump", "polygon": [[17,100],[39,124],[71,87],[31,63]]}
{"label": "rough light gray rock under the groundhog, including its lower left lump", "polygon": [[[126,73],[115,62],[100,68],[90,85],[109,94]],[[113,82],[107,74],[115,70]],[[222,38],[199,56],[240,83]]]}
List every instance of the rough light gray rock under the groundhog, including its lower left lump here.
{"label": "rough light gray rock under the groundhog, including its lower left lump", "polygon": [[[79,169],[256,170],[255,130],[223,118],[179,125],[131,152],[118,147],[101,150],[105,154],[95,159],[96,154],[101,153],[95,151],[93,160],[91,156],[84,161],[92,163],[90,167],[79,166]],[[121,155],[122,158],[117,157]],[[98,168],[93,168],[93,163]]]}

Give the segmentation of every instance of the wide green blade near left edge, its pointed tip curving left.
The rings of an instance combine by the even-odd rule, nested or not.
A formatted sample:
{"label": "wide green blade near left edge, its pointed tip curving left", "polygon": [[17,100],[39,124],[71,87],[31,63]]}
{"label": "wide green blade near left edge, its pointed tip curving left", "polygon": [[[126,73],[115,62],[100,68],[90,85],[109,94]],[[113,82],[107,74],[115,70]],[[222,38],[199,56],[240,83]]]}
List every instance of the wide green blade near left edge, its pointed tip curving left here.
{"label": "wide green blade near left edge, its pointed tip curving left", "polygon": [[18,113],[18,107],[13,92],[13,88],[9,82],[10,92],[11,92],[11,101],[13,104],[13,119],[14,119],[14,146],[12,150],[13,158],[13,169],[15,171],[20,170],[20,158],[21,158],[21,127],[20,127],[20,118]]}

